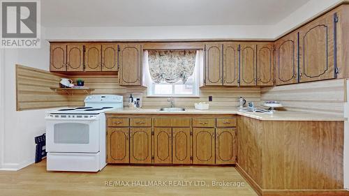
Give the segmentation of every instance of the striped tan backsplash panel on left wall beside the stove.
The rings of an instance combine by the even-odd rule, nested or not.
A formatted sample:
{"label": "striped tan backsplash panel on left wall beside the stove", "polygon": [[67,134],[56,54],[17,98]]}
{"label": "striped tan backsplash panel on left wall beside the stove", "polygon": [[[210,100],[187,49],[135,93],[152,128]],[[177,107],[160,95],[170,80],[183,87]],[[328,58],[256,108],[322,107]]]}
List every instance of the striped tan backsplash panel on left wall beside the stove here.
{"label": "striped tan backsplash panel on left wall beside the stove", "polygon": [[37,68],[16,65],[17,111],[66,107],[66,93],[54,92],[63,75]]}

